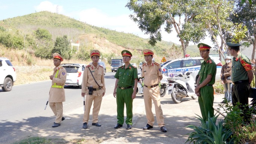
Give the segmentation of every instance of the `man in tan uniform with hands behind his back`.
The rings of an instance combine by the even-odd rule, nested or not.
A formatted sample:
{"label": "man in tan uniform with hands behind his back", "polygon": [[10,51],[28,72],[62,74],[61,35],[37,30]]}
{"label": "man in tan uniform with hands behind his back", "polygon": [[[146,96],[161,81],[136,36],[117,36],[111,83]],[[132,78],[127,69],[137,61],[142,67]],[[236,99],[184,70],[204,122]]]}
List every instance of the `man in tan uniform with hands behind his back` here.
{"label": "man in tan uniform with hands behind his back", "polygon": [[154,115],[152,113],[153,100],[158,126],[160,127],[162,132],[167,132],[164,123],[163,111],[160,105],[160,88],[158,84],[163,79],[162,68],[160,64],[152,61],[154,55],[154,52],[152,52],[152,50],[144,49],[142,53],[146,61],[146,63],[142,65],[142,77],[144,77],[143,93],[146,109],[146,118],[148,120],[148,123],[145,127],[143,127],[143,130],[153,128],[155,122]]}

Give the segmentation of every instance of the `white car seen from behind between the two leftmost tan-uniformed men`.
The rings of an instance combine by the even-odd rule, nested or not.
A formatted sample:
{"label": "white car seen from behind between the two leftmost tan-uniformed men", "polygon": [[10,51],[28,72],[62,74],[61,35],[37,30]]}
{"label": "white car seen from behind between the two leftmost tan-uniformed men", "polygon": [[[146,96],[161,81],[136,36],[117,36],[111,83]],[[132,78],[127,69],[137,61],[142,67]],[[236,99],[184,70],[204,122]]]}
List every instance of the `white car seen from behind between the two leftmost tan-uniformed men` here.
{"label": "white car seen from behind between the two leftmost tan-uniformed men", "polygon": [[82,79],[86,64],[61,64],[67,71],[65,85],[79,86],[82,88]]}

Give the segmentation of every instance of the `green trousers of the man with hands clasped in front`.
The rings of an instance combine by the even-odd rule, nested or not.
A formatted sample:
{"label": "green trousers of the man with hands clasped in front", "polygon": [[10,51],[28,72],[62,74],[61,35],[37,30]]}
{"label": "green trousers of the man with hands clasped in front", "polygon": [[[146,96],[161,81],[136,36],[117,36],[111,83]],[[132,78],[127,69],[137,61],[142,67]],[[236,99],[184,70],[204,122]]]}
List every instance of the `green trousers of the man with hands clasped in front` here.
{"label": "green trousers of the man with hands clasped in front", "polygon": [[208,112],[210,113],[210,117],[213,117],[214,115],[213,92],[213,86],[203,86],[202,88],[200,88],[200,97],[198,97],[198,103],[204,121],[207,121]]}

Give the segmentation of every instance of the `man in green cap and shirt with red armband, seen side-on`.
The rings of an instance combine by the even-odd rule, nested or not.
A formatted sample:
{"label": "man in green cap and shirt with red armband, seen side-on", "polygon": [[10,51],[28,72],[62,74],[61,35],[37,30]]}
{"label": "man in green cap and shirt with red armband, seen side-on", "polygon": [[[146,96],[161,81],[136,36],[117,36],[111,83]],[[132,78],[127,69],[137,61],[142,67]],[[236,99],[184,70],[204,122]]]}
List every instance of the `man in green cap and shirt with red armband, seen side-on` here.
{"label": "man in green cap and shirt with red armband, seen side-on", "polygon": [[[253,80],[253,71],[251,68],[250,59],[240,53],[241,44],[232,44],[227,42],[229,53],[233,56],[232,60],[232,104],[233,106],[239,102],[241,105],[248,105],[250,83]],[[241,106],[241,109],[244,109]],[[248,109],[248,106],[246,107]],[[248,117],[247,117],[248,118]],[[247,119],[245,118],[245,120]]]}

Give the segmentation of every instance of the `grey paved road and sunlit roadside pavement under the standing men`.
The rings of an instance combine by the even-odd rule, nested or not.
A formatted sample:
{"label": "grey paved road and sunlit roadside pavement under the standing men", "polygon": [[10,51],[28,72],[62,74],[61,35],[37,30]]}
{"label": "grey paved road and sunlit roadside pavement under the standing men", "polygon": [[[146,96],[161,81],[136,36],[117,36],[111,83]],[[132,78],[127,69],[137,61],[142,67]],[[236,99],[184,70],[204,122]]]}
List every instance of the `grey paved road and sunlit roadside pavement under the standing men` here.
{"label": "grey paved road and sunlit roadside pavement under the standing men", "polygon": [[[133,128],[126,130],[126,124],[120,129],[116,125],[116,99],[113,97],[114,74],[107,73],[105,82],[107,93],[103,97],[99,123],[102,127],[91,126],[91,115],[88,129],[82,128],[83,105],[81,90],[74,87],[65,88],[64,120],[61,126],[52,128],[55,120],[49,106],[44,109],[50,81],[14,86],[10,92],[0,89],[0,144],[8,144],[28,136],[44,136],[47,138],[88,139],[103,141],[103,143],[170,143],[184,144],[187,133],[192,132],[186,126],[199,125],[195,118],[200,115],[197,100],[185,98],[180,104],[172,102],[170,95],[161,98],[165,124],[168,132],[163,133],[157,126],[153,129],[142,130],[146,125],[146,115],[142,95],[137,95],[133,102]],[[222,95],[215,95],[215,105],[222,101]],[[154,105],[152,105],[153,113]]]}

